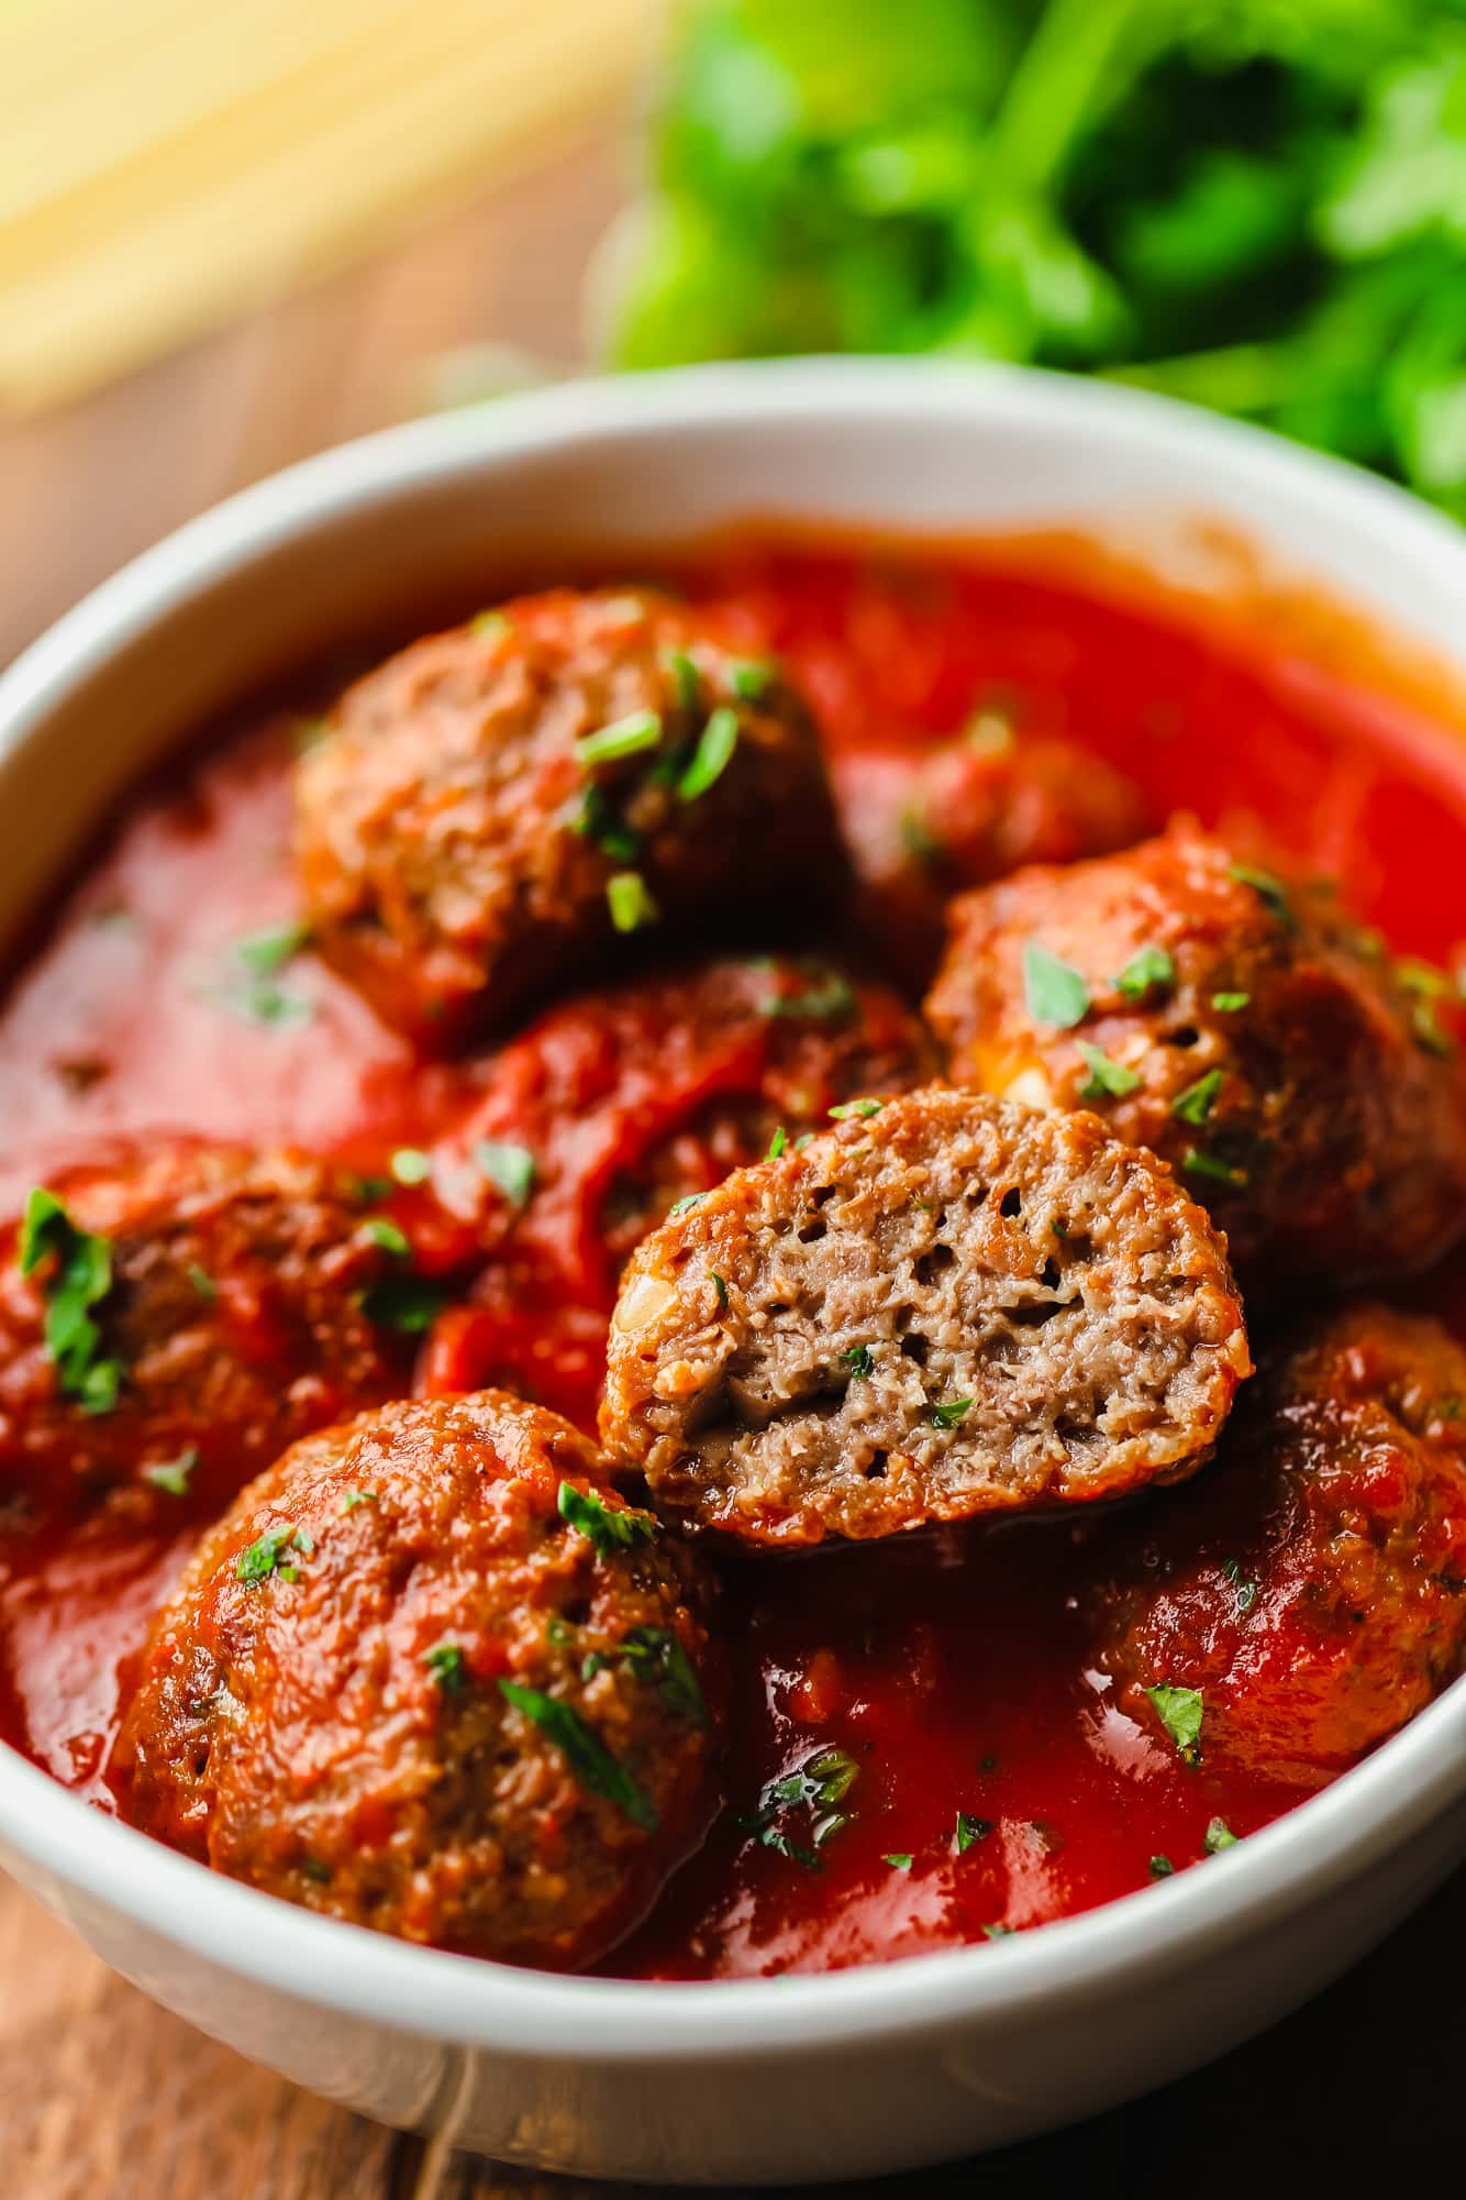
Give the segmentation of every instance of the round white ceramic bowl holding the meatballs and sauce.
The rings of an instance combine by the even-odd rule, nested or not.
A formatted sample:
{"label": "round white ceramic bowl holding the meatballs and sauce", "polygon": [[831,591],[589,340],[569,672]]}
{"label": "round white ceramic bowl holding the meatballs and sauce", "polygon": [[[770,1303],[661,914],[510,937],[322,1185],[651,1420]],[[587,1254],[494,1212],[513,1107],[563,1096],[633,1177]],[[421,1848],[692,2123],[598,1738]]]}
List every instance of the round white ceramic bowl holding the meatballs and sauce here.
{"label": "round white ceramic bowl holding the meatballs and sauce", "polygon": [[[1466,675],[1466,537],[1343,466],[1077,381],[809,361],[393,429],[174,535],[0,680],[0,928],[138,768],[264,667],[545,548],[730,519],[1242,528]],[[1174,530],[1171,530],[1171,539]],[[914,2167],[1103,2108],[1325,1984],[1466,1855],[1466,1683],[1204,1870],[971,1951],[738,1984],[549,1978],[215,1879],[0,1749],[0,1859],[169,2009],[316,2092],[591,2176]]]}

